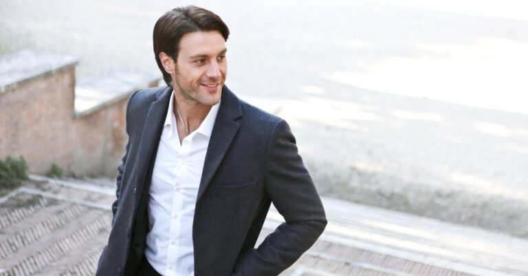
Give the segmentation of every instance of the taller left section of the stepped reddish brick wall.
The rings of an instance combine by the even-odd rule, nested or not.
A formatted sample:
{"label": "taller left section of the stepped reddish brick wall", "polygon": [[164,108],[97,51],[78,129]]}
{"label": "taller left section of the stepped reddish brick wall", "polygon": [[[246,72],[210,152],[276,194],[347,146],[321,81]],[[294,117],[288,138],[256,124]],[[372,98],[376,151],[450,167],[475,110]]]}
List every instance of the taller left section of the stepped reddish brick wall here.
{"label": "taller left section of the stepped reddish brick wall", "polygon": [[34,173],[47,171],[53,162],[69,170],[74,87],[72,65],[0,94],[0,158],[21,155]]}

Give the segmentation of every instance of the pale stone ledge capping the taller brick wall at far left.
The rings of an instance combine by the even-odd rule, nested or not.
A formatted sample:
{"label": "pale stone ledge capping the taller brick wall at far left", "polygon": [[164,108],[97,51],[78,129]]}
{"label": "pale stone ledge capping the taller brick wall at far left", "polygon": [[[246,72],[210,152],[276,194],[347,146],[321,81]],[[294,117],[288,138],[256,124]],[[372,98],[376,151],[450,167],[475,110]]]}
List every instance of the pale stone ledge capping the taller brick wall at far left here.
{"label": "pale stone ledge capping the taller brick wall at far left", "polygon": [[14,87],[75,67],[72,56],[23,50],[0,56],[0,94]]}

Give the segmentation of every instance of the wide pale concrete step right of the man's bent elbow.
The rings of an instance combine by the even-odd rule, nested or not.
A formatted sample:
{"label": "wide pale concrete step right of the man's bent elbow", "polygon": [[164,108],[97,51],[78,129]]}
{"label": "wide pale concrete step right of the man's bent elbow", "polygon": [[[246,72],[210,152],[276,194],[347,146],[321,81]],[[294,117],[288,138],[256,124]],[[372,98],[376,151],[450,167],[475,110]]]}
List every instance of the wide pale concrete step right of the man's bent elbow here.
{"label": "wide pale concrete step right of the man's bent elbow", "polygon": [[[321,240],[470,275],[528,275],[528,241],[397,211],[322,198]],[[267,228],[282,216],[272,209]]]}

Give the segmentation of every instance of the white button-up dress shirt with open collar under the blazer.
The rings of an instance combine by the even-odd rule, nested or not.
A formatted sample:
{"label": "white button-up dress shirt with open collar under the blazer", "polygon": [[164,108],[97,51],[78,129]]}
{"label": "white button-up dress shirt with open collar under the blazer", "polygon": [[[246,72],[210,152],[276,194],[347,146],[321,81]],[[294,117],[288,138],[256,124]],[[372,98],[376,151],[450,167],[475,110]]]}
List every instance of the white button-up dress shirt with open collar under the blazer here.
{"label": "white button-up dress shirt with open collar under the blazer", "polygon": [[148,191],[145,257],[161,275],[195,275],[192,221],[209,139],[220,103],[211,107],[195,131],[179,142],[173,112],[174,92]]}

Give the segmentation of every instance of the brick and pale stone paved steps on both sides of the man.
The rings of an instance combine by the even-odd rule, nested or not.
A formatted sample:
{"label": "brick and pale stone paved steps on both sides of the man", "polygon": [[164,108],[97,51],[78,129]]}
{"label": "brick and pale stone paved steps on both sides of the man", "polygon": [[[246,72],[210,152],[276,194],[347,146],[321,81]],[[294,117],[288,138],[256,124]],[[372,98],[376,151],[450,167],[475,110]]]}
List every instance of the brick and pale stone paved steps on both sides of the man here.
{"label": "brick and pale stone paved steps on both sides of the man", "polygon": [[[0,275],[94,275],[106,244],[109,184],[33,177],[0,198]],[[528,275],[528,241],[323,198],[329,224],[282,276]],[[272,209],[259,244],[282,222]]]}

